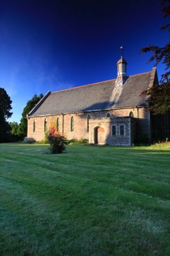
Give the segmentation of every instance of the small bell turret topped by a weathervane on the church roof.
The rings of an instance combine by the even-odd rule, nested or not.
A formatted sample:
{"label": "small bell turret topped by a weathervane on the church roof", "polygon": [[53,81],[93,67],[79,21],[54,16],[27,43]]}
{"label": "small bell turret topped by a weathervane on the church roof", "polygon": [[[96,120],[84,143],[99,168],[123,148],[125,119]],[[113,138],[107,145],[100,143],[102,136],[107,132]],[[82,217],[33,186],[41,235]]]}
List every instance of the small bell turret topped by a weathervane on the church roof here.
{"label": "small bell turret topped by a weathervane on the church roof", "polygon": [[120,60],[117,61],[117,79],[116,79],[116,85],[123,85],[126,82],[127,74],[126,74],[126,65],[127,62],[126,60],[123,58],[123,47],[120,47],[121,50],[121,58]]}

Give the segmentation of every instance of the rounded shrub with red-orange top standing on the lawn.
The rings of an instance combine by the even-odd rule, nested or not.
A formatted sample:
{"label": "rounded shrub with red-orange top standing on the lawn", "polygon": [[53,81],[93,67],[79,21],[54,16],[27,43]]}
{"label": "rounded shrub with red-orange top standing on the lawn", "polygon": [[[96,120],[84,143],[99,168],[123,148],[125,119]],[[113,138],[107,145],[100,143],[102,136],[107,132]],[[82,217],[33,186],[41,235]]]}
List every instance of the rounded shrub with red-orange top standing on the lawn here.
{"label": "rounded shrub with red-orange top standing on the lawn", "polygon": [[50,152],[52,154],[61,154],[66,149],[66,138],[53,128],[49,131],[48,141],[50,143]]}

